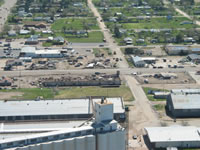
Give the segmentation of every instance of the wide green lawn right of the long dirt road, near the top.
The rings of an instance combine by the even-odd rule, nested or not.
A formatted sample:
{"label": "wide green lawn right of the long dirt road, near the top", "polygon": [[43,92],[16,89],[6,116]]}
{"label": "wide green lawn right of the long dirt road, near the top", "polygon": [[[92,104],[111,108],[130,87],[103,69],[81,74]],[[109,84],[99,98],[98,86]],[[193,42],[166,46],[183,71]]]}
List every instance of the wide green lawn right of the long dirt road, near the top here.
{"label": "wide green lawn right of the long dirt road, near the top", "polygon": [[122,23],[122,27],[124,29],[164,29],[164,28],[193,28],[194,24],[184,24],[181,25],[184,21],[190,21],[185,17],[177,17],[173,18],[172,20],[167,20],[165,17],[161,18],[151,18],[151,19],[144,19],[140,21],[135,21],[135,23]]}

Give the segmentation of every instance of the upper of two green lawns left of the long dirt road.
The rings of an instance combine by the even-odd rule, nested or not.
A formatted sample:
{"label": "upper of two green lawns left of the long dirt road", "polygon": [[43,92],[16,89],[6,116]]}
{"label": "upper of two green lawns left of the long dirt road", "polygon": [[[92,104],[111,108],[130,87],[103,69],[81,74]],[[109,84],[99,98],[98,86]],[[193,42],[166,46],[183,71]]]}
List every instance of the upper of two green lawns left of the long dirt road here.
{"label": "upper of two green lawns left of the long dirt road", "polygon": [[99,26],[95,18],[87,18],[87,19],[58,19],[56,20],[51,29],[54,31],[61,31],[63,27],[66,30],[85,30],[88,27],[88,30],[97,30]]}

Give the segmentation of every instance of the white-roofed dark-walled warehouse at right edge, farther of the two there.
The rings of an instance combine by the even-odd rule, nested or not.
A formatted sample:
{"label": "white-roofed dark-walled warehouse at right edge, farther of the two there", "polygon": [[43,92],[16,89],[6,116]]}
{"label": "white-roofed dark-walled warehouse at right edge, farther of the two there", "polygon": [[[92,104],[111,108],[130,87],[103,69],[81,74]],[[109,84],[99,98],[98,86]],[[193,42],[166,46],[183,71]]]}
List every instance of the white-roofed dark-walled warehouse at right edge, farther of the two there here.
{"label": "white-roofed dark-walled warehouse at right edge, farther of the two there", "polygon": [[175,89],[167,97],[167,109],[173,117],[200,117],[200,90]]}

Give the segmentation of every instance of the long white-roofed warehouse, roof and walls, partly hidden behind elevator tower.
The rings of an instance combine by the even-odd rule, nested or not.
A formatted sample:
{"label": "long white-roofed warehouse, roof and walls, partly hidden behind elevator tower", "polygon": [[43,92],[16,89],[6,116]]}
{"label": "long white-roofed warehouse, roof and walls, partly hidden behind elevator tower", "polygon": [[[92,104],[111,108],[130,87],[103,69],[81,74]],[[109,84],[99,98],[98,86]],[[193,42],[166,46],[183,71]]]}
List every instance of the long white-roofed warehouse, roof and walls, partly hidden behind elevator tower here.
{"label": "long white-roofed warehouse, roof and walls, partly hidden behind elevator tower", "polygon": [[[123,121],[125,108],[122,98],[107,99],[114,104],[114,118]],[[0,122],[88,119],[93,116],[97,101],[100,98],[0,101]]]}

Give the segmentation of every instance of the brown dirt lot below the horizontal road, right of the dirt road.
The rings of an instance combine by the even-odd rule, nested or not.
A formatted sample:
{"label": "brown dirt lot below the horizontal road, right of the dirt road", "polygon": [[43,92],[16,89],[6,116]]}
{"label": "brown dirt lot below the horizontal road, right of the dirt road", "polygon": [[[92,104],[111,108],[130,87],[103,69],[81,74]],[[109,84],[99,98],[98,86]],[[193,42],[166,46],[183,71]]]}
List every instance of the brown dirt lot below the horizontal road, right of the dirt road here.
{"label": "brown dirt lot below the horizontal road, right of the dirt road", "polygon": [[191,84],[191,83],[196,83],[196,81],[187,72],[186,73],[176,73],[174,75],[176,77],[172,77],[171,79],[163,79],[163,78],[159,78],[159,77],[156,78],[155,74],[141,74],[141,75],[136,76],[136,79],[141,84],[144,84],[145,80],[148,82],[148,84]]}

